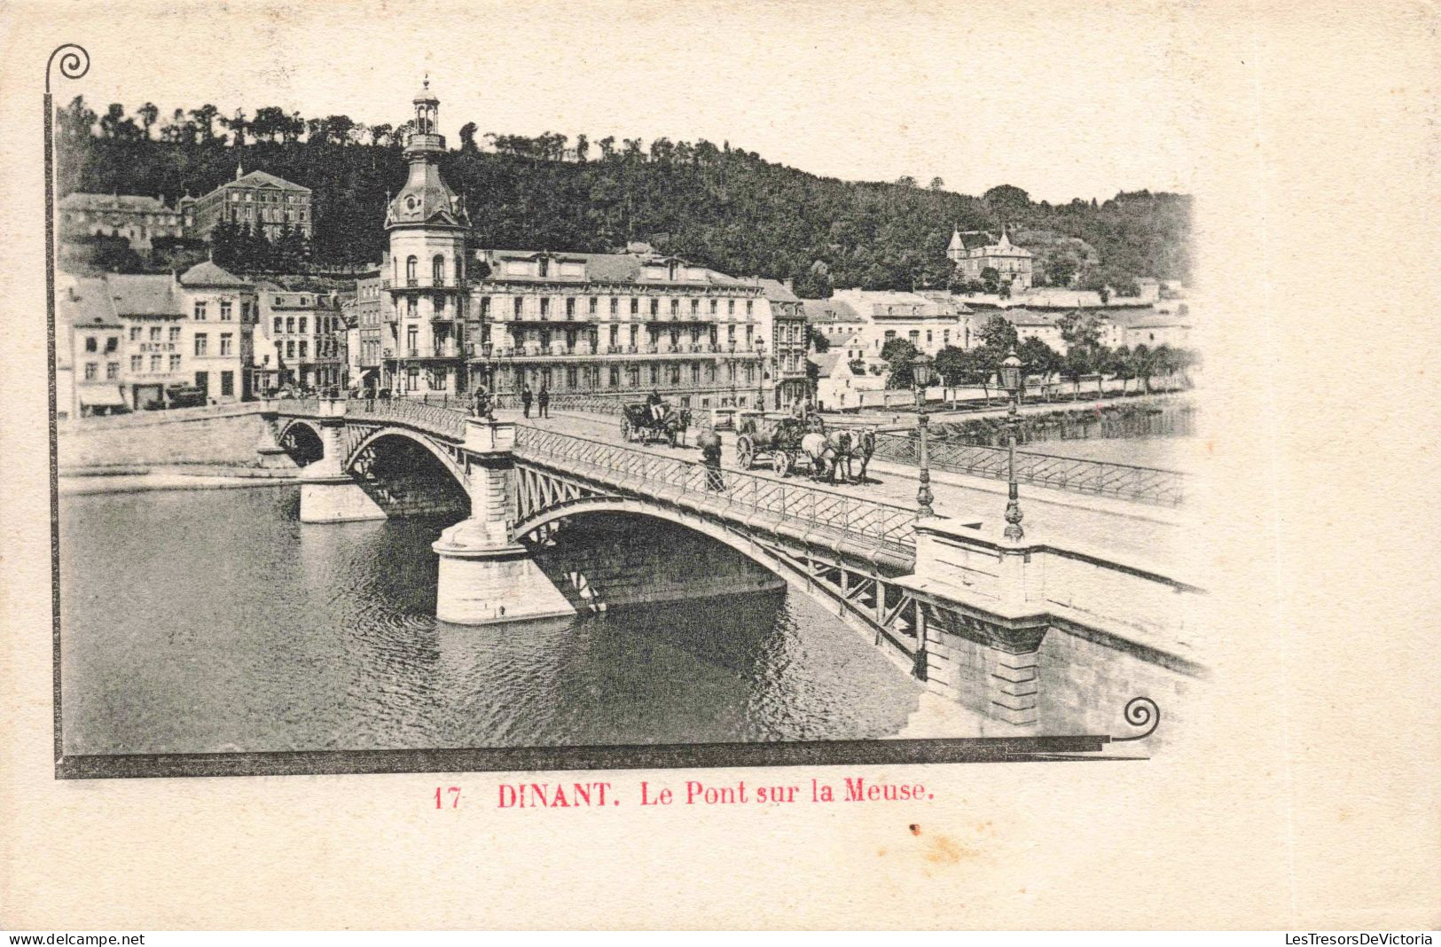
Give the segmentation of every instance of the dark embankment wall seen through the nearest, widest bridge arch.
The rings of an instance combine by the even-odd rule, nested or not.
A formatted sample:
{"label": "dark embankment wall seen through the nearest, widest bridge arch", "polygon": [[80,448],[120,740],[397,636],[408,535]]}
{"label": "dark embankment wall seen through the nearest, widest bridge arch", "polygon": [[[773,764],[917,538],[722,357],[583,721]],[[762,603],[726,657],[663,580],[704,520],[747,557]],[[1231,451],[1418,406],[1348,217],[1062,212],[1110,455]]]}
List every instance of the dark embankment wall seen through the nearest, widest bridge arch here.
{"label": "dark embankment wall seen through the nearest, widest bridge arch", "polygon": [[657,519],[585,516],[553,546],[536,552],[540,569],[576,608],[607,608],[780,591],[785,582],[746,556],[683,526]]}

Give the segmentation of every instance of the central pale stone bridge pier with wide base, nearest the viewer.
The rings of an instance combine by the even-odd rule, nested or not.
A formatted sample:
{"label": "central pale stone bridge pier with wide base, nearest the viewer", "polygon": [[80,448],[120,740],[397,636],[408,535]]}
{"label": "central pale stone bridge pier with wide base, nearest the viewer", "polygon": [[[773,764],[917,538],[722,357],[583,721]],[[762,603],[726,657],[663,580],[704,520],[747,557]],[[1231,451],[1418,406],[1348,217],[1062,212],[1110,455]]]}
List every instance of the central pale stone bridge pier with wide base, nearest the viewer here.
{"label": "central pale stone bridge pier with wide base, nearest the viewer", "polygon": [[445,529],[435,617],[452,624],[496,624],[572,615],[575,608],[514,535],[516,425],[465,421],[470,516]]}

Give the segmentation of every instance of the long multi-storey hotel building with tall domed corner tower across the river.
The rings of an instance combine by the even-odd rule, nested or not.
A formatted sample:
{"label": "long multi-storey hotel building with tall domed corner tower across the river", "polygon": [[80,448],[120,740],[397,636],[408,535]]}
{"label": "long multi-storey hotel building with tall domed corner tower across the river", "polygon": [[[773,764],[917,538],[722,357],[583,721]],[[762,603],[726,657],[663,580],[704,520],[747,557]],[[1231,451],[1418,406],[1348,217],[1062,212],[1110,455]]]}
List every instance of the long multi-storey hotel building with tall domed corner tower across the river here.
{"label": "long multi-storey hotel building with tall domed corner tower across the river", "polygon": [[[409,176],[386,209],[380,359],[402,396],[525,386],[693,408],[785,408],[808,392],[806,316],[780,283],[633,245],[624,254],[477,249],[440,173],[438,101],[415,97]],[[369,368],[362,362],[362,370]]]}

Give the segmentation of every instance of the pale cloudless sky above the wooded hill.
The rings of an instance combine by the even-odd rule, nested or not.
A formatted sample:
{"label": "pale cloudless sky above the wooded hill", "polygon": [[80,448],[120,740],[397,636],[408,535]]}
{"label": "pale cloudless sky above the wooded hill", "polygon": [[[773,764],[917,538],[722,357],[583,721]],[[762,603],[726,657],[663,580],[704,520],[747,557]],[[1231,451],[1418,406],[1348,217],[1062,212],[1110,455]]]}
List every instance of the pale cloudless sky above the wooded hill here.
{"label": "pale cloudless sky above the wooded hill", "polygon": [[729,141],[816,174],[973,195],[1193,190],[1183,4],[131,3],[110,20],[63,7],[92,65],[61,101],[401,124],[428,74],[452,146],[474,121]]}

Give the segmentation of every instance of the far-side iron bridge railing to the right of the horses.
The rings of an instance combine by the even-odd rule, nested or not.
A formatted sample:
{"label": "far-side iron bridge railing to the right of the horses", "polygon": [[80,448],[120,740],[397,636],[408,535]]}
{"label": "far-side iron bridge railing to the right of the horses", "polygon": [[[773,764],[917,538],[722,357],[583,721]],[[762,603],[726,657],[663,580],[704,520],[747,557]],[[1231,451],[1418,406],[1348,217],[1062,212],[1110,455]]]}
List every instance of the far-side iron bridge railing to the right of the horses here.
{"label": "far-side iron bridge railing to the right of the horses", "polygon": [[[931,467],[937,470],[993,480],[1009,479],[1004,447],[957,444],[932,437],[927,444],[927,453]],[[901,464],[919,464],[919,444],[914,437],[880,434],[876,437],[873,457]],[[1075,493],[1177,506],[1186,497],[1187,476],[1177,470],[1016,451],[1016,480]]]}

